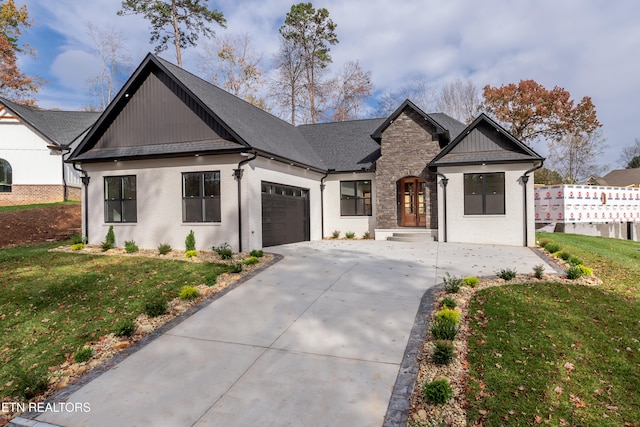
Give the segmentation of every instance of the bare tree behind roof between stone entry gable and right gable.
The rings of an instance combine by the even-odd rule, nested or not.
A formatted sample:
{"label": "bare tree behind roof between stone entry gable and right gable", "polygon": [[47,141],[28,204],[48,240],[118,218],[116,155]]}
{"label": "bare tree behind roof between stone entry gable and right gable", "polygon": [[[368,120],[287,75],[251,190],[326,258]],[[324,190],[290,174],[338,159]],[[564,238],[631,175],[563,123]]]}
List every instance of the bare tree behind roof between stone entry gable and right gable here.
{"label": "bare tree behind roof between stone entry gable and right gable", "polygon": [[436,109],[466,124],[471,123],[480,108],[480,91],[471,80],[457,78],[440,88]]}

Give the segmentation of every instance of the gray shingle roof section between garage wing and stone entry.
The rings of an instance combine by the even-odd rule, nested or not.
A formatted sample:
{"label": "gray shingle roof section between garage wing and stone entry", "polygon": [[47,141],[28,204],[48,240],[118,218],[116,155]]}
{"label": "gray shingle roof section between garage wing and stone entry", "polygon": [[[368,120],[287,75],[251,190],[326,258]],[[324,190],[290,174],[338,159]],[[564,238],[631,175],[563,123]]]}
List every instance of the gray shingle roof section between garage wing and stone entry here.
{"label": "gray shingle roof section between garage wing and stone entry", "polygon": [[385,119],[354,120],[298,126],[328,169],[336,172],[371,169],[380,145],[371,138]]}

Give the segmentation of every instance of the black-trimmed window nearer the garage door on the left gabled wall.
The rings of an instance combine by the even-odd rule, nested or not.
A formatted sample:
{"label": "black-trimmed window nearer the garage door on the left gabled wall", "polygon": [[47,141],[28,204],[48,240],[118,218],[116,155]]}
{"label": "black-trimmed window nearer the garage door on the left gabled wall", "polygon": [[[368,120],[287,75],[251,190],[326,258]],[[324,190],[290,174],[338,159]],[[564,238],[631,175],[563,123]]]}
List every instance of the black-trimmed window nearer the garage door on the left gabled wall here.
{"label": "black-trimmed window nearer the garage door on the left gabled wall", "polygon": [[182,174],[182,222],[220,222],[220,171]]}

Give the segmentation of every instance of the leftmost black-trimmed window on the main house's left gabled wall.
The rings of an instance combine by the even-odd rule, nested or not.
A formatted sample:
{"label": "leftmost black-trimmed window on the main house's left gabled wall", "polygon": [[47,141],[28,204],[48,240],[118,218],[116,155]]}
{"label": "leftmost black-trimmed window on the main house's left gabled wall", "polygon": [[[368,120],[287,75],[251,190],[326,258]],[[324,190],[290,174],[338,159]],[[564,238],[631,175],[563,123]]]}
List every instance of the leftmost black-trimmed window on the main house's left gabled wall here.
{"label": "leftmost black-trimmed window on the main house's left gabled wall", "polygon": [[138,221],[135,175],[104,177],[104,221]]}

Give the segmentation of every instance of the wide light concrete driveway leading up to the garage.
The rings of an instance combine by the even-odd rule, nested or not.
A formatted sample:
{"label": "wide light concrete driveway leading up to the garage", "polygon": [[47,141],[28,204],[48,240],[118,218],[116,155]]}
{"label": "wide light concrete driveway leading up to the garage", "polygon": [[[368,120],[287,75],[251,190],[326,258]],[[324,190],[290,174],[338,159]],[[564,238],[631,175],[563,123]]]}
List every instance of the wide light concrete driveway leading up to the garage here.
{"label": "wide light concrete driveway leading up to the garage", "polygon": [[381,426],[425,291],[445,272],[543,263],[526,248],[437,242],[269,250],[284,258],[63,397],[90,412],[14,424]]}

